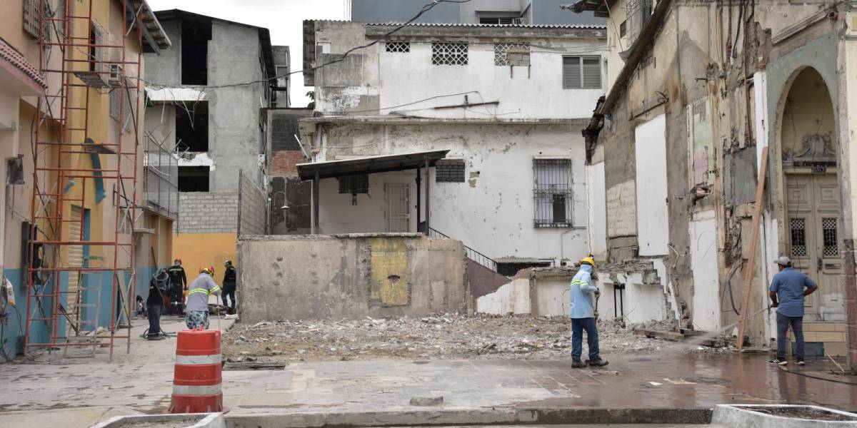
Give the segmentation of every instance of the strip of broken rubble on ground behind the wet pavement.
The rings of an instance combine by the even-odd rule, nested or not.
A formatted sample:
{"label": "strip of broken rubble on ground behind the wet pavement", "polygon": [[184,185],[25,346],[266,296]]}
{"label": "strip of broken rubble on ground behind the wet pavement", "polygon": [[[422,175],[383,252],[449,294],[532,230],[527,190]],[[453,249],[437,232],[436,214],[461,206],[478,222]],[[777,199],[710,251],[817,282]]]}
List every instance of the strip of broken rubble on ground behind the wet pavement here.
{"label": "strip of broken rubble on ground behind the wet pavement", "polygon": [[[718,353],[734,349],[721,340],[716,348],[641,336],[639,328],[668,330],[650,322],[623,327],[599,321],[601,353]],[[585,352],[585,348],[584,348]],[[229,362],[528,359],[553,360],[571,354],[571,321],[566,317],[529,315],[464,316],[339,321],[278,321],[235,324],[225,332]]]}

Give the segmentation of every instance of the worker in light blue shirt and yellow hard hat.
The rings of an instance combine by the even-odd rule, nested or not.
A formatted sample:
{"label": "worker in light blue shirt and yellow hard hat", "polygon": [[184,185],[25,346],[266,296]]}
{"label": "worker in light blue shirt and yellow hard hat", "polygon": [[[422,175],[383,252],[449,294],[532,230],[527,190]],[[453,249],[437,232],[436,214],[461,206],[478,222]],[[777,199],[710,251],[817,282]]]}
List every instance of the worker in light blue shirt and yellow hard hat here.
{"label": "worker in light blue shirt and yellow hard hat", "polygon": [[[580,260],[577,275],[572,279],[572,305],[568,318],[572,318],[572,367],[607,366],[607,360],[602,360],[598,353],[598,330],[595,318],[594,300],[601,294],[592,285],[592,270],[595,269],[595,259],[592,256]],[[589,347],[589,360],[586,364],[580,360],[583,354],[583,332],[586,331],[586,343]]]}

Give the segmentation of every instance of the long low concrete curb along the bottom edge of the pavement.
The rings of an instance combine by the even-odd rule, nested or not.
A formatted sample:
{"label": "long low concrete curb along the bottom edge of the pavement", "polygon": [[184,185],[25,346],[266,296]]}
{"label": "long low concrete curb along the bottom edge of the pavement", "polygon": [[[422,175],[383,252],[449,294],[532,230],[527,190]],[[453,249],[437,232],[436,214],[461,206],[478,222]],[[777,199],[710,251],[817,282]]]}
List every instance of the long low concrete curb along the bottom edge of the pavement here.
{"label": "long low concrete curb along the bottom edge of the pavement", "polygon": [[710,424],[710,408],[464,408],[362,413],[227,415],[231,428],[358,428],[426,425]]}

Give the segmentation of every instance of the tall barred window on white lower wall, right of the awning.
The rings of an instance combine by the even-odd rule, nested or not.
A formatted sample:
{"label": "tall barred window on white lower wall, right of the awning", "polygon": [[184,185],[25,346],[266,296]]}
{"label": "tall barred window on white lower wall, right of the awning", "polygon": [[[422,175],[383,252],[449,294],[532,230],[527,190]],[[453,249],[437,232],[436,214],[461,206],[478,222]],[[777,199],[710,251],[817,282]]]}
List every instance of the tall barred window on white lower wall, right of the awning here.
{"label": "tall barred window on white lower wall, right of the awning", "polygon": [[536,228],[572,227],[572,160],[533,159]]}

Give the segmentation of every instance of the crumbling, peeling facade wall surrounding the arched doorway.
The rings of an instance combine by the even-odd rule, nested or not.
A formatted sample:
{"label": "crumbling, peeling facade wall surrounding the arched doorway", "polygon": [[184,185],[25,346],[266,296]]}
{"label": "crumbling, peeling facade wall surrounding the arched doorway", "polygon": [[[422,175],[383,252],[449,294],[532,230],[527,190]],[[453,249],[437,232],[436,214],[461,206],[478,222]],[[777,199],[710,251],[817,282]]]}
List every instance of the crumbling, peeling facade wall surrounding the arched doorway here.
{"label": "crumbling, peeling facade wall surrounding the arched doorway", "polygon": [[[605,108],[608,121],[599,145],[608,153],[604,160],[608,256],[614,263],[635,259],[639,252],[635,244],[644,241],[643,231],[632,230],[626,221],[632,209],[639,210],[644,195],[626,196],[620,186],[638,179],[634,169],[649,164],[641,162],[631,147],[634,129],[664,115],[669,240],[667,257],[657,262],[662,267],[655,267],[663,289],[674,289],[681,324],[710,330],[737,321],[728,296],[740,300],[743,291],[761,148],[770,146],[768,202],[759,236],[764,245],[755,254],[749,301],[751,308],[760,309],[774,273],[770,260],[788,253],[790,245],[783,221],[788,215],[782,171],[786,148],[781,141],[785,145],[786,140],[795,140],[794,128],[803,135],[801,121],[818,128],[819,134],[829,134],[830,140],[837,133],[846,135],[837,131],[838,121],[847,116],[836,95],[835,113],[819,117],[821,109],[806,107],[794,128],[782,122],[788,116],[783,115],[783,105],[798,102],[799,97],[788,91],[805,67],[818,69],[821,86],[826,86],[822,89],[841,93],[844,74],[836,67],[845,57],[841,49],[837,51],[844,21],[842,15],[830,13],[836,11],[834,2],[772,1],[732,7],[674,2],[661,10],[662,22],[650,43],[640,45],[643,55],[627,74],[632,77],[614,87],[620,95],[608,97]],[[837,174],[840,183],[848,180],[842,169]],[[638,183],[636,187],[641,188]],[[807,273],[812,276],[811,270]],[[754,343],[767,343],[770,321],[752,318],[746,334]]]}

